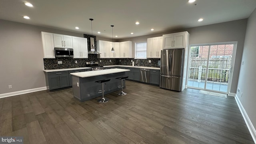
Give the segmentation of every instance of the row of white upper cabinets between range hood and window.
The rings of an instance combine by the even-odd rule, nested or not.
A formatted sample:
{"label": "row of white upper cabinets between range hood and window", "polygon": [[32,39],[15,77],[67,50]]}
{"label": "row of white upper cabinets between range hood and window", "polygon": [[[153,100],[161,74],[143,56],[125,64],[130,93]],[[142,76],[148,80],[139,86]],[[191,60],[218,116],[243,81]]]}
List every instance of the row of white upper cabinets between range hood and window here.
{"label": "row of white upper cabinets between range hood and window", "polygon": [[[111,49],[114,48],[114,52]],[[132,58],[132,41],[108,42],[97,40],[98,58]]]}

